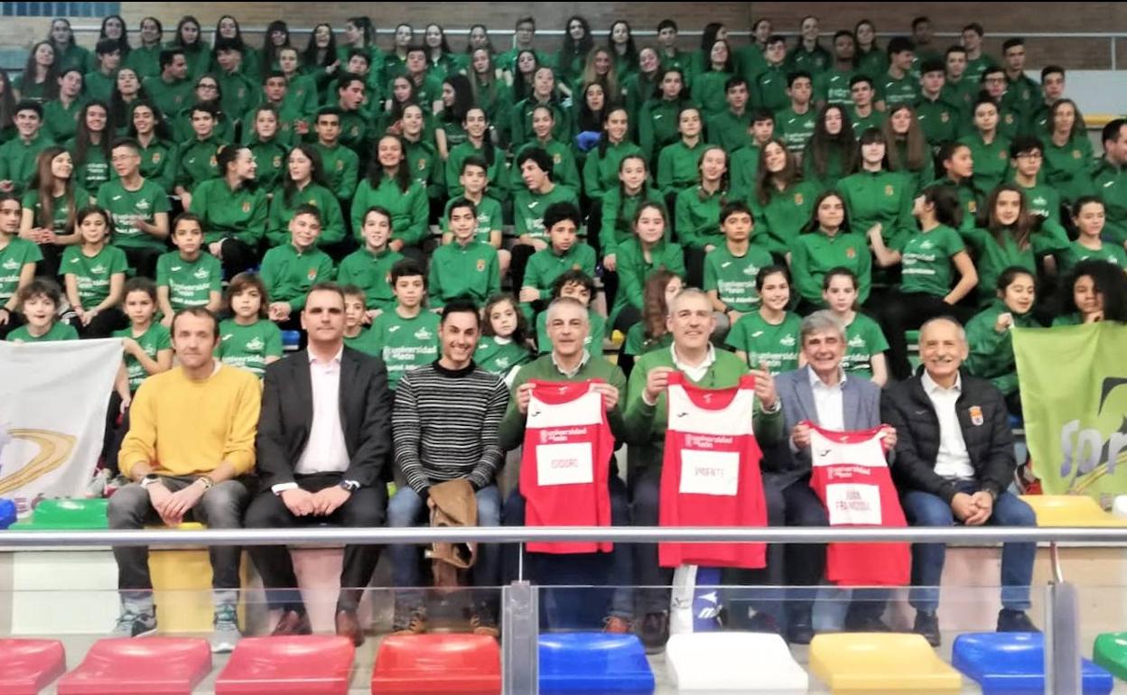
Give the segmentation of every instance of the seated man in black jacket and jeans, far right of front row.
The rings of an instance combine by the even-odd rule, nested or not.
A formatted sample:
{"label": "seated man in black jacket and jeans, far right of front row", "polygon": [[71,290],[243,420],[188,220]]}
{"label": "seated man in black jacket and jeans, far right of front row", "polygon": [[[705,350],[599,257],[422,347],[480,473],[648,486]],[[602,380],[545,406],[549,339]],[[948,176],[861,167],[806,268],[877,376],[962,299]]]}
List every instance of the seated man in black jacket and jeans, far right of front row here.
{"label": "seated man in black jacket and jeans, far right of front row", "polygon": [[[924,374],[885,391],[881,415],[898,433],[893,479],[904,515],[915,526],[1036,526],[1029,505],[1005,491],[1015,466],[1005,400],[990,382],[959,372],[968,351],[958,322],[932,319],[920,329]],[[939,543],[912,546],[914,630],[933,647],[944,551]],[[1036,543],[1002,546],[999,632],[1036,631],[1026,615],[1036,554]]]}

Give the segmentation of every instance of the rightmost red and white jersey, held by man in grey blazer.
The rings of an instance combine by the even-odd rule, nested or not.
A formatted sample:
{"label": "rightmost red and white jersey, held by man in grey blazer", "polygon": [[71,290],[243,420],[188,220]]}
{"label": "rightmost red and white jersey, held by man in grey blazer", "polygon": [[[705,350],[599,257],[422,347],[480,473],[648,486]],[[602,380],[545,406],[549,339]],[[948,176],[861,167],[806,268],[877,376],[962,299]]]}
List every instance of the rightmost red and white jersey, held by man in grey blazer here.
{"label": "rightmost red and white jersey, held by man in grey blazer", "polygon": [[[810,487],[831,526],[907,526],[885,458],[882,427],[833,431],[810,422]],[[826,579],[843,586],[903,586],[912,568],[907,543],[831,543]]]}

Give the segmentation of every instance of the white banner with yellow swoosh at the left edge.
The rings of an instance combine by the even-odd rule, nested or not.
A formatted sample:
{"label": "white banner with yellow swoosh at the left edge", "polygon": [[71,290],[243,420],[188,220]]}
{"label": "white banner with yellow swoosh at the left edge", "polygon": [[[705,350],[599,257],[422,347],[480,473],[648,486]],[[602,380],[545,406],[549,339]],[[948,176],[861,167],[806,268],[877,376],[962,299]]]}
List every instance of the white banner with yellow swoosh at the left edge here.
{"label": "white banner with yellow swoosh at the left edge", "polygon": [[76,497],[101,455],[122,341],[0,341],[0,497]]}

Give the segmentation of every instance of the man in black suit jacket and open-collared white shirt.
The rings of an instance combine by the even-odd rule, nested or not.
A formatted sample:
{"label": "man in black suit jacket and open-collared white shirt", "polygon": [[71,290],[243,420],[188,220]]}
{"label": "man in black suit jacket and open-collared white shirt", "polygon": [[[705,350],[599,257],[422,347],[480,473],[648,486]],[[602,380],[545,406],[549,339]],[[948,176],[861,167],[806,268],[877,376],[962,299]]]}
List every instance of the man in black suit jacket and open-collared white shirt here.
{"label": "man in black suit jacket and open-collared white shirt", "polygon": [[[308,350],[266,368],[256,442],[263,490],[247,510],[248,528],[383,525],[388,492],[380,473],[391,449],[388,373],[381,360],[344,346],[344,313],[337,285],[314,286],[301,313]],[[309,634],[285,546],[255,546],[250,556],[270,606],[282,608],[274,634]],[[374,545],[345,547],[336,626],[357,645],[364,636],[356,607],[379,556]]]}

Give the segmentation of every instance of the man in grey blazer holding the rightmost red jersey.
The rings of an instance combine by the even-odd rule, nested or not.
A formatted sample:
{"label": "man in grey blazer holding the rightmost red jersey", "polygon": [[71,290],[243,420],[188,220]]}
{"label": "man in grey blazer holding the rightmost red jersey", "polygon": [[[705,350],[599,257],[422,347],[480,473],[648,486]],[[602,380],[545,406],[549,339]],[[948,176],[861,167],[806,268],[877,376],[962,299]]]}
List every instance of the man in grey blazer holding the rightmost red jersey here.
{"label": "man in grey blazer holding the rightmost red jersey", "polygon": [[[799,332],[806,366],[780,374],[775,380],[782,401],[786,431],[789,436],[790,465],[767,473],[766,484],[781,490],[788,526],[828,526],[825,507],[810,488],[810,428],[805,421],[825,429],[861,430],[880,425],[880,387],[866,378],[846,377],[842,369],[845,356],[845,327],[831,312],[818,311],[802,320]],[[886,439],[896,444],[896,433]],[[822,544],[786,546],[787,583],[814,587],[826,569],[826,546]],[[816,589],[793,592],[788,602],[791,642],[805,644],[814,636],[810,617]],[[845,629],[887,632],[880,615],[885,611],[885,590],[854,591],[854,602],[845,618]],[[860,600],[858,600],[860,599]]]}

